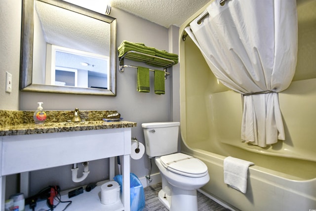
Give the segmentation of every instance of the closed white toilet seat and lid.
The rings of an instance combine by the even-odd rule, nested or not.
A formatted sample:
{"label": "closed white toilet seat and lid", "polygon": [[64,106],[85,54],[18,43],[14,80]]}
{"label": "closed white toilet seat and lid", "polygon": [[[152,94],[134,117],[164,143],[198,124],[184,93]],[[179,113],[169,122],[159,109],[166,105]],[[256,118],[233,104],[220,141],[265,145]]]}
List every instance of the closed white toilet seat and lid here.
{"label": "closed white toilet seat and lid", "polygon": [[161,156],[160,163],[164,168],[185,176],[202,177],[208,173],[202,161],[183,153]]}

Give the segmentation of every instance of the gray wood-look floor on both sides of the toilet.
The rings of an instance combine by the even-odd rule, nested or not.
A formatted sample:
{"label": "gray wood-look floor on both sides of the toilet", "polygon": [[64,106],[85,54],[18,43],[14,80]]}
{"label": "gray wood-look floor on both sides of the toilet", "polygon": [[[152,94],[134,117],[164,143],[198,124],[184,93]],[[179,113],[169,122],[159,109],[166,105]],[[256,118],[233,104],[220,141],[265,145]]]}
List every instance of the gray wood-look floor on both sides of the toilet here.
{"label": "gray wood-look floor on both sides of the toilet", "polygon": [[[158,192],[160,190],[161,183],[144,188],[146,199],[144,211],[168,211],[158,199]],[[230,211],[200,192],[197,192],[197,206],[198,211]]]}

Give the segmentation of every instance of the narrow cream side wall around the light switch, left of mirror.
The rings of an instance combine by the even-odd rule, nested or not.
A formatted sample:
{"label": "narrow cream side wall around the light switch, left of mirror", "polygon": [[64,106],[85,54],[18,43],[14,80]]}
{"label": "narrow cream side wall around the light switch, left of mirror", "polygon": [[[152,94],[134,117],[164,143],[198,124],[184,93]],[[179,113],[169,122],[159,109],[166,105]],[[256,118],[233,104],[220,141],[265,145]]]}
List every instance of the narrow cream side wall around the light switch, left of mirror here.
{"label": "narrow cream side wall around the light switch, left of mirror", "polygon": [[[0,109],[19,110],[21,0],[0,1]],[[12,74],[12,92],[5,92],[5,72]]]}

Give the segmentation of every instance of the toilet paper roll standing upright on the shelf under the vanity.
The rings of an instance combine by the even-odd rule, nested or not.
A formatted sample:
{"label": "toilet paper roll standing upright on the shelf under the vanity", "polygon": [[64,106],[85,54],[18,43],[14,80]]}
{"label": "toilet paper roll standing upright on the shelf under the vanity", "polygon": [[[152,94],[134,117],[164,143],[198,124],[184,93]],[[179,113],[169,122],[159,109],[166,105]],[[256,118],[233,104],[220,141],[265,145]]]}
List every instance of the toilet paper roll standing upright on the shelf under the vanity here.
{"label": "toilet paper roll standing upright on the shelf under the vanity", "polygon": [[104,183],[101,186],[101,203],[111,205],[119,200],[119,184],[116,181]]}

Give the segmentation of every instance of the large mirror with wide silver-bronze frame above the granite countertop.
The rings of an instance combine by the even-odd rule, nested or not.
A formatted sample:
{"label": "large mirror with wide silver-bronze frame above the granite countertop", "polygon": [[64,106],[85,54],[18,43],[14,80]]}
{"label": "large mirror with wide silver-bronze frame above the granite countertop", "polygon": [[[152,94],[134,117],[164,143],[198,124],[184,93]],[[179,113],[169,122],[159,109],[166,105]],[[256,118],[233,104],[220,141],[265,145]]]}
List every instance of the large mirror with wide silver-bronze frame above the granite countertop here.
{"label": "large mirror with wide silver-bronze frame above the granite countertop", "polygon": [[20,89],[116,96],[115,18],[62,0],[23,0]]}

